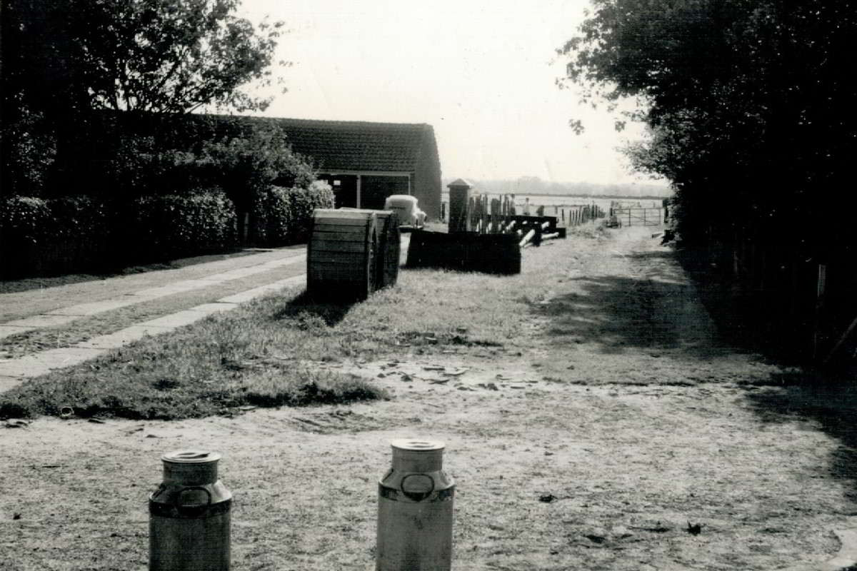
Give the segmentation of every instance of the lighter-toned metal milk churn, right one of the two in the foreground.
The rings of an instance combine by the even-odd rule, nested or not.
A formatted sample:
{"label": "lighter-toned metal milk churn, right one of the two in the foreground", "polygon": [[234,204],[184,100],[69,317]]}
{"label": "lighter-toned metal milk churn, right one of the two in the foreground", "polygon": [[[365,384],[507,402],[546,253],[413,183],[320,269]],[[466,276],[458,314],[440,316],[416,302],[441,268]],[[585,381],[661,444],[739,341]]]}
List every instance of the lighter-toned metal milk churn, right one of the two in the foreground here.
{"label": "lighter-toned metal milk churn, right one of the two in the foreground", "polygon": [[455,484],[444,444],[394,440],[393,467],[378,483],[376,571],[449,571]]}

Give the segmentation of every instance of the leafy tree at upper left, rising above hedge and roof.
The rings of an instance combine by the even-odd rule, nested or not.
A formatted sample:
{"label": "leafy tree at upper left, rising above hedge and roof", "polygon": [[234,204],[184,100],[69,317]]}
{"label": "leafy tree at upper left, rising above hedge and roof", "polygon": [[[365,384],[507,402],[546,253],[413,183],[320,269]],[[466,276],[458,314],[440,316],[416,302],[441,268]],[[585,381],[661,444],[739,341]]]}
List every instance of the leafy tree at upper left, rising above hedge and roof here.
{"label": "leafy tree at upper left, rising above hedge and roof", "polygon": [[3,0],[3,187],[38,191],[46,164],[63,178],[86,150],[93,112],[264,110],[270,99],[242,88],[275,79],[282,23],[254,26],[237,8],[238,0]]}

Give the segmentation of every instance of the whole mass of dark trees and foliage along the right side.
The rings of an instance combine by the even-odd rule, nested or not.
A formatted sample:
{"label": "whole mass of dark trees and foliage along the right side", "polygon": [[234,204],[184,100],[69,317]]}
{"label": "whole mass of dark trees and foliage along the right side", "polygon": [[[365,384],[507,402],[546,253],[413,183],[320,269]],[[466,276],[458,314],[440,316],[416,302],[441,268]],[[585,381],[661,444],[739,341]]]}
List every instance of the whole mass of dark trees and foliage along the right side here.
{"label": "whole mass of dark trees and foliage along the right side", "polygon": [[[798,346],[829,348],[857,305],[849,164],[857,5],[593,0],[560,49],[584,100],[644,121],[638,169],[666,176],[680,245]],[[816,298],[828,271],[826,307]],[[850,293],[849,293],[850,292]],[[844,316],[844,318],[842,317]],[[844,319],[844,320],[843,320]],[[829,336],[825,341],[824,336]],[[820,341],[819,341],[820,340]]]}

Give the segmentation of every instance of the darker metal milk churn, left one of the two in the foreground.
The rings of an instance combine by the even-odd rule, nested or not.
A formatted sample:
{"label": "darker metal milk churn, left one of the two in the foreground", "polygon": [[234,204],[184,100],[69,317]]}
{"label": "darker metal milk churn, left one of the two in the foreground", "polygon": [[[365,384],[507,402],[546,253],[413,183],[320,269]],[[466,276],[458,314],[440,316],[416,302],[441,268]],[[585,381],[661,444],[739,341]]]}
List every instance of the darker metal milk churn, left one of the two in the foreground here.
{"label": "darker metal milk churn, left one of the two in the foreground", "polygon": [[161,456],[164,481],[149,497],[150,571],[227,571],[232,494],[220,455],[177,450]]}

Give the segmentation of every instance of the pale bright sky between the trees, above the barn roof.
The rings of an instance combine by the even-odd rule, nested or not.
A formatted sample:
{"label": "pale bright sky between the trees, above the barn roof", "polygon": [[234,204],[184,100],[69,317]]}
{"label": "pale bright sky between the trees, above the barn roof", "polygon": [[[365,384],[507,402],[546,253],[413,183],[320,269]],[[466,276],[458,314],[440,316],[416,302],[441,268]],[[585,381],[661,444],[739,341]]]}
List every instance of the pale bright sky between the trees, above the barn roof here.
{"label": "pale bright sky between the trees, above the barn roof", "polygon": [[[445,177],[650,182],[615,150],[607,111],[554,80],[555,49],[588,0],[243,0],[239,15],[285,21],[281,75],[267,116],[428,123]],[[272,90],[273,92],[273,90]],[[570,118],[584,120],[575,135]]]}

